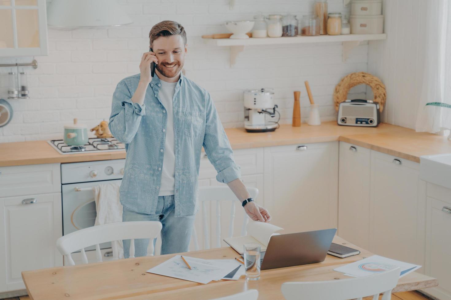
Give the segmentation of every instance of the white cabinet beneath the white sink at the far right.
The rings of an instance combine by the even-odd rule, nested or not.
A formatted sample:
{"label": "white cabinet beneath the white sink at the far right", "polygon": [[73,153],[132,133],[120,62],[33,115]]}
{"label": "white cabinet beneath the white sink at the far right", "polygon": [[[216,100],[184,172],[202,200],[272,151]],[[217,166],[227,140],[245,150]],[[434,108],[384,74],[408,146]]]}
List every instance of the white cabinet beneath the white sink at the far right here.
{"label": "white cabinet beneath the white sink at the far right", "polygon": [[426,275],[438,287],[424,289],[440,300],[451,300],[451,190],[428,183],[426,210]]}

